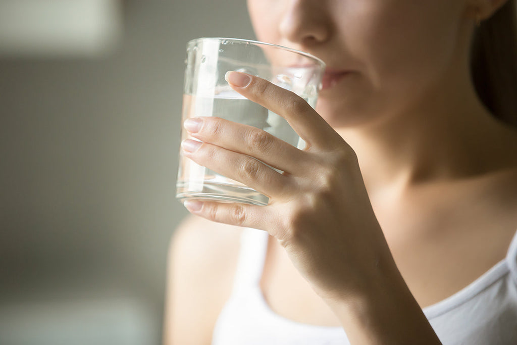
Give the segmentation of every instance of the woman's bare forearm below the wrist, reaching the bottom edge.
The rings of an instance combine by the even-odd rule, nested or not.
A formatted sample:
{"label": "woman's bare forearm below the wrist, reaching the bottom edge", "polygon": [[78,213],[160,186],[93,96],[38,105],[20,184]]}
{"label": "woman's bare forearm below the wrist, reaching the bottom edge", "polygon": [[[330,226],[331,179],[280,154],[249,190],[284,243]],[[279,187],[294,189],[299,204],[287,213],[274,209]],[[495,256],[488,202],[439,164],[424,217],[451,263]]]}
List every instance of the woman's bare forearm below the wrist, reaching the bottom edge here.
{"label": "woman's bare forearm below the wrist, reaching the bottom edge", "polygon": [[441,344],[396,265],[345,298],[326,299],[352,345]]}

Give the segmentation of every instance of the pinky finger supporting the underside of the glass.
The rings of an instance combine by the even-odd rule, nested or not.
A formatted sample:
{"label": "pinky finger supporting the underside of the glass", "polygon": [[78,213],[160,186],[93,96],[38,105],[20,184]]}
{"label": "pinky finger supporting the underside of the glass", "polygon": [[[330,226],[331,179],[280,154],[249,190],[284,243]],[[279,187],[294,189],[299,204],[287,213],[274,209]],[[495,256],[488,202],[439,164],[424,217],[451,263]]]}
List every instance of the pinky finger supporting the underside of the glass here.
{"label": "pinky finger supporting the underside of the glass", "polygon": [[192,214],[219,223],[238,227],[264,229],[268,217],[268,206],[257,206],[236,203],[186,200],[185,207]]}

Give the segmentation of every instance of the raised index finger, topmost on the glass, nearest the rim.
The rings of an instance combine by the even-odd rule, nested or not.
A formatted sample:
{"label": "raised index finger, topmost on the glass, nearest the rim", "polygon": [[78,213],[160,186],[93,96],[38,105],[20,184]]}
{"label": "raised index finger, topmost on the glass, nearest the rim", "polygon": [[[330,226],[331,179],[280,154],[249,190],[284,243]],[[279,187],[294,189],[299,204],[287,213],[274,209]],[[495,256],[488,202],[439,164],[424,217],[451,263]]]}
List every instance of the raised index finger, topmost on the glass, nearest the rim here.
{"label": "raised index finger, topmost on the glass, nearest the rim", "polygon": [[226,81],[236,92],[282,116],[309,146],[329,147],[339,135],[303,98],[250,74],[230,71]]}

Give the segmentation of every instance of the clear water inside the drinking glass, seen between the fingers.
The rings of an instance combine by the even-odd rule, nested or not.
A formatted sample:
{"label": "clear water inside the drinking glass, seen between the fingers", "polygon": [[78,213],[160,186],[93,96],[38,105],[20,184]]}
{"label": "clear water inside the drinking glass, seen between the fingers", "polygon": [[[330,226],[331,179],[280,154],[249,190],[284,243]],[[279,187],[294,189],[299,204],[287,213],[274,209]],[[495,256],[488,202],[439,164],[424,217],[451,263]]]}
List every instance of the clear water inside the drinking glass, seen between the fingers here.
{"label": "clear water inside the drinking glass, seen between the fingers", "polygon": [[[305,99],[314,107],[315,97]],[[182,123],[188,117],[193,116],[225,118],[263,129],[298,148],[305,147],[305,142],[300,139],[283,117],[242,97],[234,91],[219,93],[216,97],[184,95]],[[187,138],[185,131],[182,131],[181,140]],[[281,172],[278,169],[276,170]],[[184,158],[181,152],[179,156],[176,198],[243,202],[255,205],[267,205],[269,200],[267,196],[240,182],[202,167],[188,158]]]}

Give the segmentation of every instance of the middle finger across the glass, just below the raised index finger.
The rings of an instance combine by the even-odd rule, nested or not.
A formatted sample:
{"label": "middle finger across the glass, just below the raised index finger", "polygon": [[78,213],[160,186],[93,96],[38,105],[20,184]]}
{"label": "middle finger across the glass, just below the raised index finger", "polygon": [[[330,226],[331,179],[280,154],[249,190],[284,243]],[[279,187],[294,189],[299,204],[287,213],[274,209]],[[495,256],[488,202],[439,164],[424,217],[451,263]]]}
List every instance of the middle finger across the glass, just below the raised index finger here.
{"label": "middle finger across the glass, just below the raised index finger", "polygon": [[189,119],[185,128],[196,139],[252,156],[290,174],[299,172],[307,160],[306,152],[253,126],[208,116]]}

